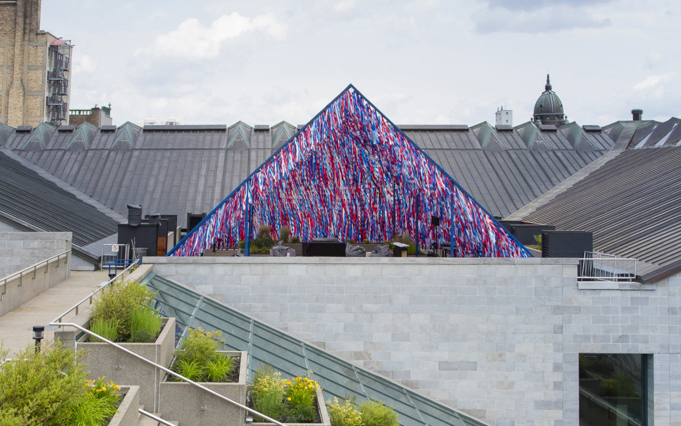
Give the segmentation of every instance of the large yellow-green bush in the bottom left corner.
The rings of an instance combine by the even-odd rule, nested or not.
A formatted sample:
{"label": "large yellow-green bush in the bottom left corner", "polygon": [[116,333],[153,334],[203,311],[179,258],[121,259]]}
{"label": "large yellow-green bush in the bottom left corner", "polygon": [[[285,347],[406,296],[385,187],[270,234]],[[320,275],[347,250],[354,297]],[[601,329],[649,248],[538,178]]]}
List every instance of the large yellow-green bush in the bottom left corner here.
{"label": "large yellow-green bush in the bottom left corner", "polygon": [[84,394],[86,372],[72,348],[33,344],[12,361],[0,347],[0,425],[57,426],[67,423]]}

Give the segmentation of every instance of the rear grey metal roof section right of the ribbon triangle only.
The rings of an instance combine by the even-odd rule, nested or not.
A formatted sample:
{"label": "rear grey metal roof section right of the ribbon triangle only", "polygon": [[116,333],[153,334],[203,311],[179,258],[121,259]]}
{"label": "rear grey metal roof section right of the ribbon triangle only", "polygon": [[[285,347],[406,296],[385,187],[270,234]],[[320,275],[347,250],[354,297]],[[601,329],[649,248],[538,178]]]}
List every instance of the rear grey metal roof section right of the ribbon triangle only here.
{"label": "rear grey metal roof section right of the ribbon triangle only", "polygon": [[[601,132],[573,125],[541,131],[531,122],[498,131],[487,122],[469,131],[405,129],[494,216],[507,216],[548,191],[612,146]],[[578,138],[576,148],[571,142]]]}

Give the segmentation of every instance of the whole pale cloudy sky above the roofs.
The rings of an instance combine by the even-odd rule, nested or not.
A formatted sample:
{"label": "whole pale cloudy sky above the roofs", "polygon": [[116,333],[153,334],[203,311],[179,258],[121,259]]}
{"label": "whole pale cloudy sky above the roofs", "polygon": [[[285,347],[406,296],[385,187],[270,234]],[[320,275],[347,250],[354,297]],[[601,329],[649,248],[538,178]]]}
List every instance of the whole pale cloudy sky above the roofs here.
{"label": "whole pale cloudy sky above the roofs", "polygon": [[551,73],[569,120],[681,115],[678,1],[43,0],[72,40],[71,108],[114,124],[303,124],[354,84],[397,124],[527,121]]}

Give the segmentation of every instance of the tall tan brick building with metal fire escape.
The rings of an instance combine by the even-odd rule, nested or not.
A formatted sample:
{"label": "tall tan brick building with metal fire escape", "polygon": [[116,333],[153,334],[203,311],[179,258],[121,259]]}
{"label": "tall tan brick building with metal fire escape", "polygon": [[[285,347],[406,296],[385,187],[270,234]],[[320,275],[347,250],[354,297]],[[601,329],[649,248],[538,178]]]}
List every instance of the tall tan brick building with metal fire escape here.
{"label": "tall tan brick building with metal fire escape", "polygon": [[40,0],[0,0],[0,122],[12,127],[69,122],[73,46],[39,28]]}

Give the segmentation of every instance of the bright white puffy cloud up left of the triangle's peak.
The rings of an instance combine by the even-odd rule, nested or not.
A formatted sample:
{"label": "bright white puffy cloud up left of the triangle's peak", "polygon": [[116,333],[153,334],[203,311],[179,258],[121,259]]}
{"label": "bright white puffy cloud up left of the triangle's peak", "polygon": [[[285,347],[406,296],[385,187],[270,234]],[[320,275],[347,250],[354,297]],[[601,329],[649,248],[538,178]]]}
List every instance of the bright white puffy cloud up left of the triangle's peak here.
{"label": "bright white puffy cloud up left of the triangle's peak", "polygon": [[251,19],[233,12],[220,16],[210,24],[210,27],[205,27],[196,18],[189,18],[180,23],[174,31],[157,36],[153,52],[185,59],[215,58],[219,55],[223,42],[249,31],[262,31],[274,39],[284,39],[287,27],[277,21],[273,14]]}

